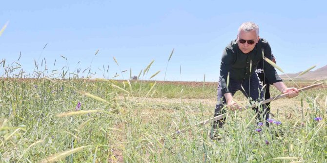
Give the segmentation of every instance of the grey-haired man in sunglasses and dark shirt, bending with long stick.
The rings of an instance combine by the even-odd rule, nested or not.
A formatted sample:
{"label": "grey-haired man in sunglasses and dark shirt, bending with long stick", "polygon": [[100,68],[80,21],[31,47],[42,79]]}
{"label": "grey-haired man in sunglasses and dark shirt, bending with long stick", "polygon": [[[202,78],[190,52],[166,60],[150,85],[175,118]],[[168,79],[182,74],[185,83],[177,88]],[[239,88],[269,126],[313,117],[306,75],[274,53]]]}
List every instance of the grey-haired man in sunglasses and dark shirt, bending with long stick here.
{"label": "grey-haired man in sunglasses and dark shirt, bending with long stick", "polygon": [[[215,116],[225,113],[224,105],[232,110],[240,108],[233,100],[236,91],[242,91],[251,101],[259,102],[264,99],[262,86],[255,73],[260,61],[265,64],[265,76],[268,84],[273,84],[282,93],[288,93],[289,98],[298,95],[298,89],[287,88],[275,68],[263,60],[264,56],[271,58],[271,48],[265,39],[259,37],[258,25],[253,22],[243,23],[239,27],[237,39],[227,45],[222,55]],[[266,112],[265,105],[254,109],[263,114],[265,120],[268,119],[269,114]],[[260,118],[260,114],[257,118]],[[223,127],[224,122],[225,118],[216,121],[213,128],[216,129],[217,124],[219,127]]]}

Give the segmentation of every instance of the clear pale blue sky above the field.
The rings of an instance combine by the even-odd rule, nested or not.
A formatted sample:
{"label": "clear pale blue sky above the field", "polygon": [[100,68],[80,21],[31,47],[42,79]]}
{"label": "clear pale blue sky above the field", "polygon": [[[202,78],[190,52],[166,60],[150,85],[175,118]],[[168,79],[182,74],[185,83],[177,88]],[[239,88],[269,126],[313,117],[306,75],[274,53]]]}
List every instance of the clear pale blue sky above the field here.
{"label": "clear pale blue sky above the field", "polygon": [[[123,72],[124,79],[152,61],[148,79],[218,81],[220,59],[239,25],[256,22],[277,64],[294,73],[327,64],[327,10],[324,0],[56,0],[2,1],[0,59],[18,61],[33,72],[34,59],[48,70],[70,72],[91,65],[96,77]],[[47,44],[43,50],[44,45]],[[97,50],[99,53],[94,55]],[[67,61],[62,56],[67,57]],[[113,60],[115,57],[119,66]],[[54,61],[56,65],[54,66]],[[80,61],[80,63],[78,63]],[[180,68],[182,67],[182,74]],[[43,67],[44,69],[44,63]],[[41,70],[41,67],[40,67]],[[3,72],[3,68],[0,68]],[[279,72],[281,74],[281,72]],[[122,75],[117,77],[122,79]]]}

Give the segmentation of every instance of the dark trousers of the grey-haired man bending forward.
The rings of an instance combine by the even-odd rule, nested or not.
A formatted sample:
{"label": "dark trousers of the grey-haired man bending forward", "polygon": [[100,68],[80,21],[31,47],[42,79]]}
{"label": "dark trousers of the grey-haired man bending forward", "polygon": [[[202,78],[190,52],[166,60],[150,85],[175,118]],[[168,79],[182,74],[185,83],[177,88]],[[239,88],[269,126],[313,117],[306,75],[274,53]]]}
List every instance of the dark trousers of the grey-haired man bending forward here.
{"label": "dark trousers of the grey-haired man bending forward", "polygon": [[[221,86],[221,80],[219,80],[218,84],[218,91],[217,91],[217,104],[215,109],[215,115],[218,116],[225,113],[225,109],[222,109],[224,105],[226,105],[226,99],[224,94],[222,93],[222,86]],[[242,89],[243,87],[243,89]],[[264,100],[264,92],[261,91],[262,85],[259,84],[258,75],[256,73],[253,73],[250,76],[250,79],[246,79],[243,81],[236,81],[233,79],[229,79],[229,91],[232,93],[232,96],[234,96],[236,91],[242,91],[242,93],[245,95],[245,97],[250,98],[250,103],[255,101],[259,102]],[[256,112],[259,112],[257,115],[257,120],[262,121],[261,117],[264,117],[265,120],[269,118],[269,113],[267,112],[266,105],[262,105],[261,107],[252,108]],[[226,118],[223,118],[221,120],[217,120],[213,124],[213,128],[216,129],[217,125],[218,127],[223,127],[225,123]]]}

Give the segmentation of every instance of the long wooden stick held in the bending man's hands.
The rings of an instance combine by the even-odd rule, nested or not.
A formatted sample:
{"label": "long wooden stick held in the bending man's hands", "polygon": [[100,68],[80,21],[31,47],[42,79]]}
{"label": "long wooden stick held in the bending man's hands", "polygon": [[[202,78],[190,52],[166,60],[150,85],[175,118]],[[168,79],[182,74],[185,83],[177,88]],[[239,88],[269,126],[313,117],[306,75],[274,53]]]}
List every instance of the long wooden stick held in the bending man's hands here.
{"label": "long wooden stick held in the bending man's hands", "polygon": [[[312,89],[312,88],[315,88],[315,87],[318,87],[318,86],[321,86],[323,83],[317,83],[317,84],[313,84],[313,85],[310,85],[310,86],[307,86],[307,87],[304,87],[302,89],[299,89],[299,92],[301,91],[306,91],[306,90],[309,90],[309,89]],[[272,98],[269,98],[269,99],[266,99],[260,103],[257,103],[257,104],[253,104],[249,107],[245,107],[245,109],[250,109],[250,108],[254,108],[254,107],[258,107],[260,105],[263,105],[263,104],[266,104],[268,102],[271,102],[271,101],[274,101],[274,100],[278,100],[278,99],[281,99],[281,98],[284,98],[284,97],[287,97],[288,96],[288,93],[284,93],[284,94],[281,94],[281,95],[278,95],[278,96],[275,96],[275,97],[272,97]],[[242,109],[240,108],[240,110],[245,110],[245,109]],[[223,119],[225,117],[225,114],[221,114],[221,115],[218,115],[218,116],[215,116],[213,118],[210,118],[210,119],[207,119],[205,121],[202,121],[194,126],[201,126],[201,125],[205,125],[205,124],[208,124],[209,122],[212,122],[212,121],[217,121],[217,120],[220,120],[220,119]],[[187,128],[186,128],[187,129]],[[180,131],[177,131],[177,133],[181,133],[183,132],[184,130],[186,129],[183,129],[183,130],[180,130]]]}

